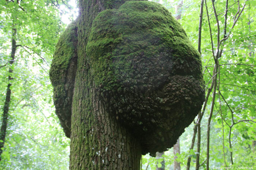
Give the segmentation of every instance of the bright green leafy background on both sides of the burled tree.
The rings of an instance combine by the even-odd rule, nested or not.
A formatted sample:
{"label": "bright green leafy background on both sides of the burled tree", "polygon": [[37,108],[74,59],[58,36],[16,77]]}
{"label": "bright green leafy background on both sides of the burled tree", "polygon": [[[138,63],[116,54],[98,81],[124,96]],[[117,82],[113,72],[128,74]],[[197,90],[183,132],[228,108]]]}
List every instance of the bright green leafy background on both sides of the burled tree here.
{"label": "bright green leafy background on both sides of the burled tree", "polygon": [[[154,0],[162,3],[174,16],[180,1]],[[17,3],[18,2],[18,3]],[[206,1],[212,32],[213,48],[218,46],[218,27],[211,1]],[[234,16],[245,3],[237,23]],[[67,1],[64,1],[67,4]],[[224,0],[215,0],[214,5],[220,24],[220,37],[225,28]],[[205,5],[205,4],[204,4]],[[231,165],[256,167],[256,76],[255,76],[255,1],[229,1],[226,35],[219,58],[217,91],[210,130],[210,168]],[[17,48],[12,66],[12,96],[8,134],[5,141],[1,169],[67,169],[69,141],[53,113],[52,86],[48,78],[49,63],[54,46],[65,25],[61,22],[57,1],[6,1],[0,0],[0,109],[3,110],[5,90],[8,84],[12,28],[17,29]],[[241,9],[240,8],[240,9]],[[183,0],[180,23],[196,47],[198,43],[200,2]],[[211,86],[214,58],[212,56],[209,23],[204,6],[202,21],[202,46],[204,80],[206,90]],[[206,168],[207,119],[211,110],[212,93],[201,121],[200,169]],[[2,112],[1,112],[2,114]],[[196,121],[196,120],[195,120]],[[232,125],[233,124],[233,125]],[[180,137],[181,154],[176,161],[181,168],[187,166],[191,157],[191,169],[196,166],[196,147],[189,150],[193,136],[191,124]],[[230,138],[229,138],[230,137]],[[195,141],[197,143],[197,139]],[[165,159],[166,169],[172,169],[172,149],[164,158],[155,159],[146,155],[142,169],[155,169]]]}

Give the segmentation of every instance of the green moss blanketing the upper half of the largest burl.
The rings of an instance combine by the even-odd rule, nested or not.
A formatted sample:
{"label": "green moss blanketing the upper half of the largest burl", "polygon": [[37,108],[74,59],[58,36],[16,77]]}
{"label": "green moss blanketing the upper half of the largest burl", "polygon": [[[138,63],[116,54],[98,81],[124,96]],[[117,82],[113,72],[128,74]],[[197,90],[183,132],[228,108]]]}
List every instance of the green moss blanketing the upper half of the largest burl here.
{"label": "green moss blanketing the upper half of the largest burl", "polygon": [[[200,55],[184,29],[167,9],[153,2],[128,1],[119,9],[99,13],[86,51],[95,85],[102,90],[137,86],[143,77],[158,84],[163,72],[167,77],[177,72],[202,76]],[[167,66],[170,60],[172,67]],[[137,65],[140,74],[132,69]]]}

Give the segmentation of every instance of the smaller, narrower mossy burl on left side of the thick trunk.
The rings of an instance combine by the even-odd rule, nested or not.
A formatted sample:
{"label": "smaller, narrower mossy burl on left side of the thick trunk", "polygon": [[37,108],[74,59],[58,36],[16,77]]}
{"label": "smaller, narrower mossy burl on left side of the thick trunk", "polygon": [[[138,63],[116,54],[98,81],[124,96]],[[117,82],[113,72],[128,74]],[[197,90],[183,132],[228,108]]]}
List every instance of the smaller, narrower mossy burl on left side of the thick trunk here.
{"label": "smaller, narrower mossy burl on left side of the thick trunk", "polygon": [[56,114],[67,137],[70,137],[71,127],[71,106],[77,63],[76,45],[77,27],[74,21],[60,36],[49,72]]}

